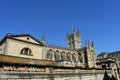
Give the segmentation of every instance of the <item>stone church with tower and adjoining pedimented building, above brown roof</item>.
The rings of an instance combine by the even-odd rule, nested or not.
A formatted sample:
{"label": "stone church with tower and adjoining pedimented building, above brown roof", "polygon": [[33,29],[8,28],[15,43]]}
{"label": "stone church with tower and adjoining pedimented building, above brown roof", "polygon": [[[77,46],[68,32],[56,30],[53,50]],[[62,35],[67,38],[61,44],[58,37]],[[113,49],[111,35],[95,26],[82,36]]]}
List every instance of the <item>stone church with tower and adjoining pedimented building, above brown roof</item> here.
{"label": "stone church with tower and adjoining pedimented building, above brown roof", "polygon": [[71,35],[67,36],[67,39],[68,48],[63,48],[44,44],[43,41],[40,42],[31,35],[7,34],[5,43],[1,44],[1,54],[57,61],[60,63],[59,66],[95,68],[94,44],[88,42],[86,47],[82,48],[79,31],[73,31]]}

